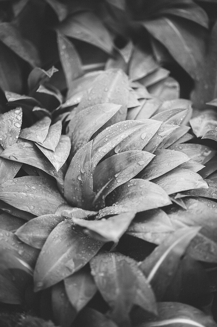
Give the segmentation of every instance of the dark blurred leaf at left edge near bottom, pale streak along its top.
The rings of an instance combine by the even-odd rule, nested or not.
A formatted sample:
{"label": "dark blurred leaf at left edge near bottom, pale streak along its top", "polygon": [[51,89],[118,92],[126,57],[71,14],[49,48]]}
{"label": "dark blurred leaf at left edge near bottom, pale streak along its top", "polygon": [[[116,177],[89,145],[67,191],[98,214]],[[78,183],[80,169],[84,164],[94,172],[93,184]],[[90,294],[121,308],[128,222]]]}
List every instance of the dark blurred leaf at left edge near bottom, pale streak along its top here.
{"label": "dark blurred leaf at left edge near bottom, pale streak along its top", "polygon": [[2,250],[0,258],[0,301],[22,304],[24,290],[32,281],[32,269],[8,250]]}

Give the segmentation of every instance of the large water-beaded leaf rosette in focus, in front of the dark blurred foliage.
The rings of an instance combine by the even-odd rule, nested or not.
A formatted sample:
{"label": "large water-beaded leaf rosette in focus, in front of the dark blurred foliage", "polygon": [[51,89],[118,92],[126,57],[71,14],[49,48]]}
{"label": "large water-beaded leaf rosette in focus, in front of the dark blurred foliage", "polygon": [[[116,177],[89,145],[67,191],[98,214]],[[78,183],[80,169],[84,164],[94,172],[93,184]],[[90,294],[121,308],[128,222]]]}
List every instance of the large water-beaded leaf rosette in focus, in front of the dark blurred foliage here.
{"label": "large water-beaded leaf rosette in focus, in front of the dark blurred foliage", "polygon": [[[58,44],[69,81],[78,57]],[[216,151],[194,142],[191,102],[119,69],[78,76],[28,127],[26,99],[6,93],[0,301],[61,326],[216,326],[204,269],[216,264],[215,198],[198,174]]]}

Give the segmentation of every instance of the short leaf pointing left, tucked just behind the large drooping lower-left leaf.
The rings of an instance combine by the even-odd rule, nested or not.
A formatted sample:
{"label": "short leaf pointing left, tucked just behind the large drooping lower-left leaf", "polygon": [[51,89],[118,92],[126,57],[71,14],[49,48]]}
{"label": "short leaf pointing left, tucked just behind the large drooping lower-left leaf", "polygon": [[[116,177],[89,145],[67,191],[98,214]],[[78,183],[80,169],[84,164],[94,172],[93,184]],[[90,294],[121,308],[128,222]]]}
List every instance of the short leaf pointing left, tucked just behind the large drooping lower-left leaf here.
{"label": "short leaf pointing left, tucked just behind the large drooping lower-left leaf", "polygon": [[58,215],[41,215],[22,225],[15,235],[36,249],[41,249],[51,231],[66,217]]}

